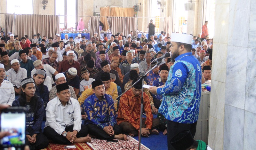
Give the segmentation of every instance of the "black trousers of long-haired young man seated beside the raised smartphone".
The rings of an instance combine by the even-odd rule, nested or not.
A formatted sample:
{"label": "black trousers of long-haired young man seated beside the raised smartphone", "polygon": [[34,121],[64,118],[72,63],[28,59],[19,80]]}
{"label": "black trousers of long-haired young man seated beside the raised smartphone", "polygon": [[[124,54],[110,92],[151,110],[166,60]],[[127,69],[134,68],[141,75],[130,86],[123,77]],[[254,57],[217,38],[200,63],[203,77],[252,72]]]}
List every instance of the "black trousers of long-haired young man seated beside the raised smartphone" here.
{"label": "black trousers of long-haired young man seated beside the raised smartphone", "polygon": [[[29,132],[29,135],[32,137],[33,136],[33,128],[28,127],[26,130]],[[25,145],[28,145],[30,150],[35,150],[35,149],[44,149],[49,145],[49,140],[44,136],[42,130],[40,130],[40,133],[36,134],[36,142],[35,143],[30,143],[28,141],[28,138],[25,138]]]}

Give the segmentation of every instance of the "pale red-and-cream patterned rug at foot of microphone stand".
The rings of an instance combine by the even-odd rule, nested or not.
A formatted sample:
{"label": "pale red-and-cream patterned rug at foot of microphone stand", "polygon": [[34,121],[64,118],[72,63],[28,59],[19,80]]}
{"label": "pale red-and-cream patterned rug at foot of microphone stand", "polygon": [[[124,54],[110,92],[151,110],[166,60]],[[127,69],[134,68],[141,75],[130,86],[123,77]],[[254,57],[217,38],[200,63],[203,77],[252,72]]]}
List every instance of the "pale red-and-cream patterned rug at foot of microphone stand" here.
{"label": "pale red-and-cream patterned rug at foot of microphone stand", "polygon": [[[117,143],[107,142],[107,140],[100,140],[92,138],[91,143],[87,143],[94,150],[134,150],[138,149],[138,141],[130,136],[127,136],[127,141],[118,140]],[[140,145],[141,150],[150,150],[143,144]]]}

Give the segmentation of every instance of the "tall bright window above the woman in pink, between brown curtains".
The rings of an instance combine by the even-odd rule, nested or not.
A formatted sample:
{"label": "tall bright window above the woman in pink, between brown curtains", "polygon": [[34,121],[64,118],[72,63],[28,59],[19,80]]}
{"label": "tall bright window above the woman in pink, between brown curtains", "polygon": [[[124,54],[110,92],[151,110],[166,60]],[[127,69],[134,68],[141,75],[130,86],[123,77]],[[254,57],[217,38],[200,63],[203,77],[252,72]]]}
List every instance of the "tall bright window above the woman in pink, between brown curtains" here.
{"label": "tall bright window above the woman in pink, between brown curtains", "polygon": [[60,15],[60,28],[76,30],[77,0],[55,0],[55,15]]}

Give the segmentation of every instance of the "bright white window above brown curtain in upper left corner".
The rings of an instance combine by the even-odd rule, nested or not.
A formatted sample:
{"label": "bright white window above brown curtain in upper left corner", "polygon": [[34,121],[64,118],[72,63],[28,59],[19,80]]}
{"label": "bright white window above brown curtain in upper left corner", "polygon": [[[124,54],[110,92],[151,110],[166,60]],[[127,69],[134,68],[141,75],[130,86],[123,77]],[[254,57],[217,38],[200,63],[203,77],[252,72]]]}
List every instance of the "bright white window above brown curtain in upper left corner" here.
{"label": "bright white window above brown curtain in upper left corner", "polygon": [[33,14],[33,0],[8,0],[7,13]]}

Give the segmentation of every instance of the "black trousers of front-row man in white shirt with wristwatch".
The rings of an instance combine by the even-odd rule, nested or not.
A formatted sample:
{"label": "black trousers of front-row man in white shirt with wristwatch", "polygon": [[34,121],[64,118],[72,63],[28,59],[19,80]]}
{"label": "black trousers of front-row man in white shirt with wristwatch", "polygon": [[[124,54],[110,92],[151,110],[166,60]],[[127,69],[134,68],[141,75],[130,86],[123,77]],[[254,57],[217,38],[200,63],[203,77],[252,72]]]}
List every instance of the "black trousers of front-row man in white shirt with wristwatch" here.
{"label": "black trousers of front-row man in white shirt with wristwatch", "polygon": [[[74,127],[74,125],[68,126],[65,128],[65,131],[72,132],[73,127]],[[88,128],[82,124],[81,130],[77,133],[76,138],[86,137],[87,134],[88,134]],[[72,144],[67,138],[65,138],[63,135],[60,135],[59,133],[57,133],[50,126],[44,128],[44,135],[56,144],[65,144],[65,145]]]}

